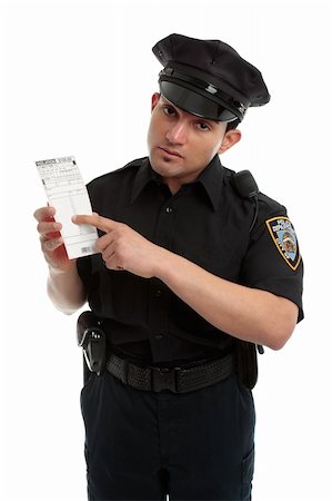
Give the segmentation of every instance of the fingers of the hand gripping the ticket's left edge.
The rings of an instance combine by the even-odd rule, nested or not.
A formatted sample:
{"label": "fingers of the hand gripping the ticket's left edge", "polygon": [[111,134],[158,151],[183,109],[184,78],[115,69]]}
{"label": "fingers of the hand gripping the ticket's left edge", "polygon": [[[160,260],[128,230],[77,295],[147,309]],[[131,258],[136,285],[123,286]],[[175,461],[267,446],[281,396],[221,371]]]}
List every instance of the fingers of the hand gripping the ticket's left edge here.
{"label": "fingers of the hand gripping the ticket's left edge", "polygon": [[38,220],[37,230],[40,235],[41,250],[46,262],[53,272],[67,272],[71,266],[63,238],[60,234],[61,223],[54,220],[54,207],[41,207],[33,214]]}

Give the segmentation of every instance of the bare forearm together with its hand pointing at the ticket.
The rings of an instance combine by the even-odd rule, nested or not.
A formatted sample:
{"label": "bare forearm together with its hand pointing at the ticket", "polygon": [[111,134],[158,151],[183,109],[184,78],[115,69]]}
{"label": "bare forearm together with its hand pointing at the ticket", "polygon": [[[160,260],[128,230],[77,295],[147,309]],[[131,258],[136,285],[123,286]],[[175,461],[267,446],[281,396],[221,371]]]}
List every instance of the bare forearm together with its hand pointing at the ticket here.
{"label": "bare forearm together with its hand pointing at the ticket", "polygon": [[289,299],[214,276],[129,226],[98,214],[76,216],[74,223],[91,224],[104,232],[97,247],[107,268],[160,278],[220,331],[279,350],[294,330],[298,306]]}

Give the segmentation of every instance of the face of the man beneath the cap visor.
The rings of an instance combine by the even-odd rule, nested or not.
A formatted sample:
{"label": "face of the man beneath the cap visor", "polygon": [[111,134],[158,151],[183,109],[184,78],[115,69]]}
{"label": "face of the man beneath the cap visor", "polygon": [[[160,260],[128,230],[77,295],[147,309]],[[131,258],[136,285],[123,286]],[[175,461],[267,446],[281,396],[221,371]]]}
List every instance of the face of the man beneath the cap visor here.
{"label": "face of the man beneath the cap visor", "polygon": [[222,153],[225,129],[225,122],[195,117],[154,94],[148,132],[153,170],[170,187],[193,181]]}

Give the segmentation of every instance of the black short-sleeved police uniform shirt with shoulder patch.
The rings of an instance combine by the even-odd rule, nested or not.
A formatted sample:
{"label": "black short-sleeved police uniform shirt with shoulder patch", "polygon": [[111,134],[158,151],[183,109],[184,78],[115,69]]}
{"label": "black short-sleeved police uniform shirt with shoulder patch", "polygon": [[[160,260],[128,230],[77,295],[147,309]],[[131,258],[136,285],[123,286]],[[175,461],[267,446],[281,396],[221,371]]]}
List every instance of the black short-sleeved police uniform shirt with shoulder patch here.
{"label": "black short-sleeved police uniform shirt with shoulder patch", "polygon": [[[302,313],[303,266],[283,206],[259,195],[241,198],[232,171],[215,156],[200,177],[172,195],[148,158],[88,185],[92,208],[211,272],[294,302]],[[286,247],[288,246],[288,247]],[[286,249],[289,253],[286,253]],[[158,278],[108,269],[100,254],[78,259],[91,310],[104,318],[108,341],[149,363],[212,358],[232,346],[219,331]]]}

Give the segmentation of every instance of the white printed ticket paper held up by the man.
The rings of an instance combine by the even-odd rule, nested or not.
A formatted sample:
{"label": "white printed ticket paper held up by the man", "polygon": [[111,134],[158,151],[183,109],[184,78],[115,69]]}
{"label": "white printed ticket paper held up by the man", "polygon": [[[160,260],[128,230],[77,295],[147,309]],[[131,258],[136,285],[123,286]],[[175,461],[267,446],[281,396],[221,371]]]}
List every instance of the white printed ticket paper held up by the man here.
{"label": "white printed ticket paper held up by the man", "polygon": [[69,259],[95,254],[97,229],[76,225],[76,214],[92,214],[90,198],[74,157],[36,161],[54,219],[62,224],[61,235]]}

